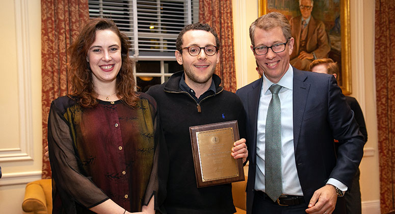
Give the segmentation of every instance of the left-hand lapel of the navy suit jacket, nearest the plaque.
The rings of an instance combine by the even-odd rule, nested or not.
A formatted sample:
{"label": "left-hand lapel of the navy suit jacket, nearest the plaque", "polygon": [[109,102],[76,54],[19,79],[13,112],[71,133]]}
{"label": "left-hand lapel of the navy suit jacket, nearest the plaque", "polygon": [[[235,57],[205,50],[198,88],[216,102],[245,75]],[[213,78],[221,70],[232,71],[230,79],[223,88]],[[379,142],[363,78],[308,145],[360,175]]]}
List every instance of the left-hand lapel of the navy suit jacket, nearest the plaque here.
{"label": "left-hand lapel of the navy suit jacket, nearest the plaque", "polygon": [[[251,157],[256,157],[256,123],[258,118],[258,106],[259,106],[259,98],[260,91],[262,88],[262,82],[264,78],[260,78],[259,81],[255,81],[252,84],[252,90],[248,92],[248,118],[252,127],[252,147],[251,149]],[[251,164],[255,164],[255,159],[250,159]]]}

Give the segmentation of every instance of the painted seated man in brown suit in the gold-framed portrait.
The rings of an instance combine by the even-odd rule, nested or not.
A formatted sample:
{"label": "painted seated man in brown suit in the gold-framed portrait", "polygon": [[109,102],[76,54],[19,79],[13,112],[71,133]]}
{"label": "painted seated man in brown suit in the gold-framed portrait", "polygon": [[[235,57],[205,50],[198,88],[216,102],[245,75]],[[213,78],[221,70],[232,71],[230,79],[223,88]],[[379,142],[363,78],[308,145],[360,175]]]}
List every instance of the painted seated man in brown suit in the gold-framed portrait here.
{"label": "painted seated man in brown suit in the gold-framed portrait", "polygon": [[302,15],[289,20],[295,39],[291,65],[300,70],[307,70],[315,59],[327,58],[330,51],[324,22],[311,16],[313,3],[313,0],[299,0]]}

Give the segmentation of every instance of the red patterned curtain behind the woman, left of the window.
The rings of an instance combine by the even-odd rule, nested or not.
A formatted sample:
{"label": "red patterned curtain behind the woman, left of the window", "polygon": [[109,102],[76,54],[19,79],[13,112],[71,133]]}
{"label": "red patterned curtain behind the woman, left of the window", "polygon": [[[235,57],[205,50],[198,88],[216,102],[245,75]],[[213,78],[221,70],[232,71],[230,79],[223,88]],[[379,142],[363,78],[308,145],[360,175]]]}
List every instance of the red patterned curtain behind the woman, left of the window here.
{"label": "red patterned curtain behind the woman, left of the window", "polygon": [[[67,49],[89,19],[88,0],[41,0],[42,146],[47,146],[47,120],[53,100],[69,90]],[[50,178],[43,156],[42,178]]]}

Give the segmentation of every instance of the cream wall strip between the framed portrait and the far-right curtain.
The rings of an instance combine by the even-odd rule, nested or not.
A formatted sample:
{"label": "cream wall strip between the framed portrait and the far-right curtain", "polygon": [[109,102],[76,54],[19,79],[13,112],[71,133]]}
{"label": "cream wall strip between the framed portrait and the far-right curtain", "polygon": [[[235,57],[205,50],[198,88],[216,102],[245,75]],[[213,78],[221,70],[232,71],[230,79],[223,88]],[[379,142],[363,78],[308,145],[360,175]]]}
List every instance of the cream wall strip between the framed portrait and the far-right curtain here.
{"label": "cream wall strip between the framed portrait and the far-right curtain", "polygon": [[364,147],[360,185],[363,214],[380,213],[379,153],[374,63],[375,1],[350,1],[352,88],[365,116],[368,140]]}

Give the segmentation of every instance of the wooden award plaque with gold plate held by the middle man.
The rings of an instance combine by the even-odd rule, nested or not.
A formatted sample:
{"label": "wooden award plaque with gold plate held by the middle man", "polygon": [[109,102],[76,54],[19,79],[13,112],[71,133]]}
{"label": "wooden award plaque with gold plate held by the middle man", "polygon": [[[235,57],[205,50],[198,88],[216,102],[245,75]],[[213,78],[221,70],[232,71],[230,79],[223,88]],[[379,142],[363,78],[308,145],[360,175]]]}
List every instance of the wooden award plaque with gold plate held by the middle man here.
{"label": "wooden award plaque with gold plate held by the middle man", "polygon": [[[240,139],[237,121],[192,126],[189,130],[198,188],[245,179],[242,158],[230,155],[234,141]],[[206,150],[216,152],[204,153]]]}

